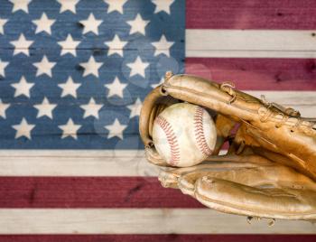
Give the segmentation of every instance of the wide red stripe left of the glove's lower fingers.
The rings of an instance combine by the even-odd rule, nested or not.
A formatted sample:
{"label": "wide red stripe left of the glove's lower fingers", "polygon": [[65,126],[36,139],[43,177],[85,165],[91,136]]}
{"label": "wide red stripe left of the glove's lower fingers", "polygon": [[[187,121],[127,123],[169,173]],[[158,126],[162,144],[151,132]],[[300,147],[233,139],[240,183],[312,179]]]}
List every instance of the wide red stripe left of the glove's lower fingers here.
{"label": "wide red stripe left of the glove's lower fingers", "polygon": [[0,208],[202,208],[153,177],[1,177]]}

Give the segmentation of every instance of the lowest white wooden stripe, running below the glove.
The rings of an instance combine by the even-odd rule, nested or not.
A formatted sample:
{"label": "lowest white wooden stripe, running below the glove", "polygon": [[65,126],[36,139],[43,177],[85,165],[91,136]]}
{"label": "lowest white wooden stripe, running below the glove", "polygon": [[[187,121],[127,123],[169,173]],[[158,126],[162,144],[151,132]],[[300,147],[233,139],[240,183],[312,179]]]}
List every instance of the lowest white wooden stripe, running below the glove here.
{"label": "lowest white wooden stripe, running below the glove", "polygon": [[306,221],[245,217],[211,209],[0,209],[0,234],[308,234]]}

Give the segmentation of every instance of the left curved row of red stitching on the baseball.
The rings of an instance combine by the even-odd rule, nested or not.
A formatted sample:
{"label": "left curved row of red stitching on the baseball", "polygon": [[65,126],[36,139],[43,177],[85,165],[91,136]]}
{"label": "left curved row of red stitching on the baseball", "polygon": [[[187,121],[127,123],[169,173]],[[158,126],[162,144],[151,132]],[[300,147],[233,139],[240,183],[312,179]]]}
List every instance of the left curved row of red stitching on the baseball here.
{"label": "left curved row of red stitching on the baseball", "polygon": [[180,160],[180,150],[177,136],[174,134],[171,124],[163,116],[157,116],[154,122],[156,122],[163,129],[164,134],[167,136],[167,141],[170,145],[172,154],[172,157],[168,163],[171,165],[176,165]]}

